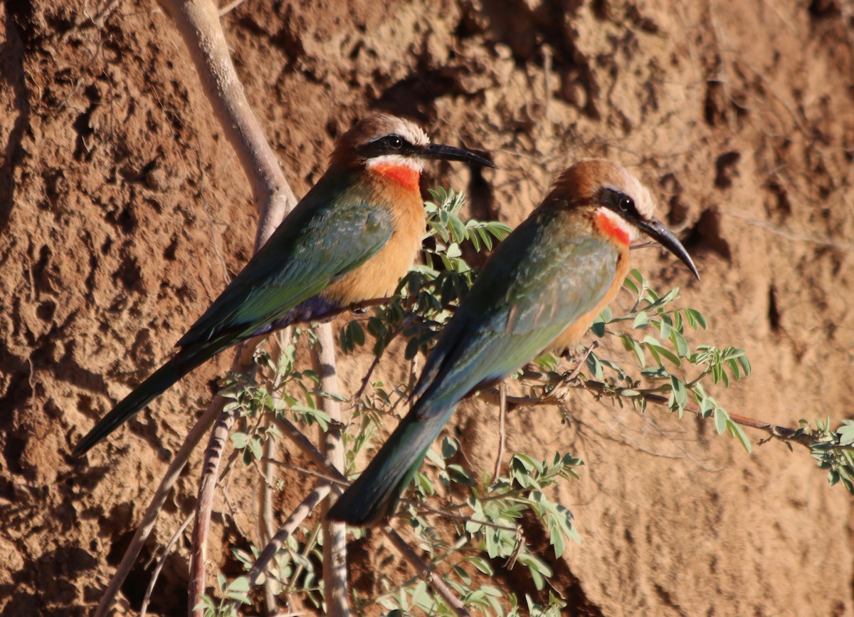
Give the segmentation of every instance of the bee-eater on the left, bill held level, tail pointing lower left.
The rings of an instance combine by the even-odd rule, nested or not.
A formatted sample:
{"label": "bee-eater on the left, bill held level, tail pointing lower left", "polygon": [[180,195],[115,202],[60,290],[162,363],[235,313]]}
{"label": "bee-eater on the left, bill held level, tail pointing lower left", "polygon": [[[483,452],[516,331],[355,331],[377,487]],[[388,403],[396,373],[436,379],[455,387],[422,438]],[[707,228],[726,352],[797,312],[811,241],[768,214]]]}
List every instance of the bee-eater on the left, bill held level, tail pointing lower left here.
{"label": "bee-eater on the left, bill held level, tail pointing lower left", "polygon": [[345,132],[317,184],[178,341],[178,352],[104,416],[74,454],[231,345],[391,295],[424,238],[418,181],[427,159],[495,167],[466,150],[431,144],[421,128],[392,115],[367,117]]}

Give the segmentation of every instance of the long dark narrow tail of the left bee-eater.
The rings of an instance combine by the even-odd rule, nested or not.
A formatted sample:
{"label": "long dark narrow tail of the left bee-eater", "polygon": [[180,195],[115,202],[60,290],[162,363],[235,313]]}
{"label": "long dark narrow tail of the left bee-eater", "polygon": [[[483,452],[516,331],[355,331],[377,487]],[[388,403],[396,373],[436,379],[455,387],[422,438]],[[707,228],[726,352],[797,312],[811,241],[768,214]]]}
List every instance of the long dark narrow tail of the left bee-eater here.
{"label": "long dark narrow tail of the left bee-eater", "polygon": [[86,436],[74,447],[73,455],[81,456],[125,423],[133,414],[167,391],[178,379],[213,356],[206,348],[181,350],[170,361],[158,368],[137,388],[123,398],[112,411],[105,415]]}

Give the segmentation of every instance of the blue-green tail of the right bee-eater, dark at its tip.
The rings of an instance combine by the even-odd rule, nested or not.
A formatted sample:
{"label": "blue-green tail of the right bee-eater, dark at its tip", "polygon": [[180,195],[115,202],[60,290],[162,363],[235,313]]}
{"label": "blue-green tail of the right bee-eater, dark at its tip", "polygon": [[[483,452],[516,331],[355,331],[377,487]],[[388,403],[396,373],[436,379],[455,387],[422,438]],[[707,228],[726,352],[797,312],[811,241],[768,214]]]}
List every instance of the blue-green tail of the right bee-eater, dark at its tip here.
{"label": "blue-green tail of the right bee-eater, dark at its tip", "polygon": [[393,514],[401,493],[456,406],[442,399],[419,400],[365,471],[338,497],[327,518],[351,526],[371,526]]}

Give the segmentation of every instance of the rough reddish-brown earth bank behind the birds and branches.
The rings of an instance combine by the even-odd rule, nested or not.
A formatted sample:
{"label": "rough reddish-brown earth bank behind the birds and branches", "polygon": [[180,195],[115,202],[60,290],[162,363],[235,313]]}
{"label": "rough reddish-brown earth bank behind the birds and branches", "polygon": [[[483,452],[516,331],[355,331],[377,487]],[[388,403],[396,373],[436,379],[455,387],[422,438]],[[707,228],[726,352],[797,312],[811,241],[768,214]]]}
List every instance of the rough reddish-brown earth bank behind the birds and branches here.
{"label": "rough reddish-brown earth bank behind the birds and branches", "polygon": [[[750,379],[712,393],[731,412],[796,425],[851,414],[852,10],[247,0],[223,23],[297,195],[371,110],[493,154],[498,171],[428,170],[426,186],[470,194],[466,216],[516,225],[570,162],[623,162],[703,279],[656,250],[633,253],[636,264],[659,289],[681,285],[683,303],[709,318],[699,342],[752,359]],[[71,447],[248,260],[255,211],[154,2],[8,0],[0,21],[0,615],[83,615],[229,355],[84,461]],[[348,362],[345,394],[366,358]],[[770,443],[747,455],[698,420],[582,393],[570,408],[569,427],[540,409],[512,414],[507,429],[510,451],[586,462],[559,494],[582,544],[561,560],[541,549],[568,614],[854,614],[851,497],[828,488],[805,450]],[[491,469],[495,418],[466,403],[449,426],[476,469]],[[117,614],[135,614],[146,560],[190,512],[198,467],[196,456]],[[229,507],[217,504],[217,542],[254,533],[247,478],[226,491]],[[283,518],[301,498],[294,485],[307,481],[278,495]],[[184,614],[186,555],[183,542],[155,614]],[[225,549],[212,555],[227,567]],[[377,538],[355,543],[351,560],[361,594],[383,572],[412,573]],[[499,567],[492,584],[532,592],[518,569]]]}

